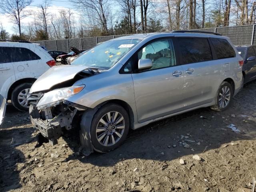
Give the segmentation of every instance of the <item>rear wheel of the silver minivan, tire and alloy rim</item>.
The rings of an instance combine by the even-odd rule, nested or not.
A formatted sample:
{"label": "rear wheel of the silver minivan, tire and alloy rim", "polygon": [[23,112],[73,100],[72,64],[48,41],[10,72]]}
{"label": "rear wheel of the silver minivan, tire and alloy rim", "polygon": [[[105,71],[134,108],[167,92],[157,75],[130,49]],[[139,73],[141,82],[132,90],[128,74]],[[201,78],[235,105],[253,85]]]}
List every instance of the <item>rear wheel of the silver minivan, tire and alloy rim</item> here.
{"label": "rear wheel of the silver minivan, tire and alloy rim", "polygon": [[220,84],[220,88],[218,89],[216,95],[216,105],[211,106],[211,109],[214,111],[224,111],[230,105],[231,99],[233,97],[233,90],[230,83],[224,81]]}

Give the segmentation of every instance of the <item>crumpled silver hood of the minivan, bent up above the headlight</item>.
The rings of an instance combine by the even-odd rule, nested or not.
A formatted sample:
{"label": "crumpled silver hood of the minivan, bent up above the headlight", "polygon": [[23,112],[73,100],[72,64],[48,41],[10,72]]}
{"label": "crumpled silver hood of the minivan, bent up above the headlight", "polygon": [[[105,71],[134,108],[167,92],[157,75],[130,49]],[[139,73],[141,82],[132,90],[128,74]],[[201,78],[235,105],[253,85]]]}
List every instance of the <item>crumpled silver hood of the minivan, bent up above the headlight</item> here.
{"label": "crumpled silver hood of the minivan, bent up above the headlight", "polygon": [[53,66],[42,74],[30,88],[30,94],[49,90],[54,85],[73,79],[76,74],[85,70],[84,65],[60,65]]}

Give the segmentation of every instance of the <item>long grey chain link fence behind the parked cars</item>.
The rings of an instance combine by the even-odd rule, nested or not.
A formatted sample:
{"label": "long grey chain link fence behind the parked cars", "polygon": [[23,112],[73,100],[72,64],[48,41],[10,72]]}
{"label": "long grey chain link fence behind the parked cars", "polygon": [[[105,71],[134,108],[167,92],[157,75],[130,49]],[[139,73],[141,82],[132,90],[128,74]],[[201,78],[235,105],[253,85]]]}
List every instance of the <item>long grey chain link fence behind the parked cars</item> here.
{"label": "long grey chain link fence behind the parked cars", "polygon": [[[255,25],[244,26],[231,26],[231,27],[217,27],[197,29],[198,31],[216,32],[223,36],[228,36],[234,45],[256,45],[255,40]],[[87,37],[87,38],[73,38],[73,39],[60,39],[60,40],[46,40],[46,41],[34,41],[45,46],[47,50],[58,50],[63,52],[70,52],[70,47],[76,47],[80,50],[88,50],[98,43],[118,38],[127,35],[113,35],[102,37]]]}

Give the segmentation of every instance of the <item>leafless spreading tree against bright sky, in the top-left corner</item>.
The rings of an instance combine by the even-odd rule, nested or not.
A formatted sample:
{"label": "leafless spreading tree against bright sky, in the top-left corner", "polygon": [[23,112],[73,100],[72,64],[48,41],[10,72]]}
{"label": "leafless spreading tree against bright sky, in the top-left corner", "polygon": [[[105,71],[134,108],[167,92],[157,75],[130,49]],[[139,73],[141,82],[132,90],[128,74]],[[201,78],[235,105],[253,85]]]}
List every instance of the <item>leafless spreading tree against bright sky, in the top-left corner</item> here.
{"label": "leafless spreading tree against bright sky, in the top-left corner", "polygon": [[31,13],[25,8],[31,4],[32,0],[2,0],[0,9],[6,14],[12,21],[12,23],[18,25],[19,34],[21,37],[21,24],[20,20],[30,16]]}

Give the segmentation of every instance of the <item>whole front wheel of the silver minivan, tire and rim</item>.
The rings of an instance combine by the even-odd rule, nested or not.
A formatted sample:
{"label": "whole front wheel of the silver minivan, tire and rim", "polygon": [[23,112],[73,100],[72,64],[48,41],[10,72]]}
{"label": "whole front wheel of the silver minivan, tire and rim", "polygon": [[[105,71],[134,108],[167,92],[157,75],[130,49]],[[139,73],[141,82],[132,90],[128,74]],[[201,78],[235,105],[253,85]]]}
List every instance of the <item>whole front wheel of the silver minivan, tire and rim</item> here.
{"label": "whole front wheel of the silver minivan, tire and rim", "polygon": [[116,149],[124,142],[129,127],[129,116],[122,106],[102,106],[92,119],[90,136],[93,149],[102,153]]}

